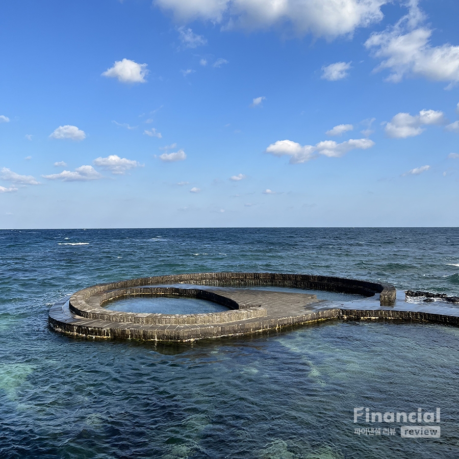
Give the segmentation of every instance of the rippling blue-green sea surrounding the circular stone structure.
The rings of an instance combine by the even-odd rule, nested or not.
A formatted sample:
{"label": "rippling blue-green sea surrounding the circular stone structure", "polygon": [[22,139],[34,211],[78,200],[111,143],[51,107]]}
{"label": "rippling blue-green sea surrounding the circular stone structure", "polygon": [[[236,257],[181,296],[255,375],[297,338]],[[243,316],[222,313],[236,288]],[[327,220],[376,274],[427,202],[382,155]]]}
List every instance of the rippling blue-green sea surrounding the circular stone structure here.
{"label": "rippling blue-green sea surrounding the circular stone structure", "polygon": [[[155,344],[47,327],[50,305],[81,288],[201,271],[326,274],[457,295],[459,229],[0,231],[0,457],[459,457],[459,328],[337,321]],[[354,424],[361,406],[440,407],[441,437]]]}

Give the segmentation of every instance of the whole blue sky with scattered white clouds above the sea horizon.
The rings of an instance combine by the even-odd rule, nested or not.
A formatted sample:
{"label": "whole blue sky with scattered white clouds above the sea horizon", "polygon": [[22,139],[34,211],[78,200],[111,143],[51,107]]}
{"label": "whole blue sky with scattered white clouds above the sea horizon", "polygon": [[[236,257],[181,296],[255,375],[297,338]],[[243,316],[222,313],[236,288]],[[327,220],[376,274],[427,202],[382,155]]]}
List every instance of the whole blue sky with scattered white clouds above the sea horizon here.
{"label": "whole blue sky with scattered white clouds above the sea horizon", "polygon": [[0,228],[459,226],[457,0],[4,0]]}

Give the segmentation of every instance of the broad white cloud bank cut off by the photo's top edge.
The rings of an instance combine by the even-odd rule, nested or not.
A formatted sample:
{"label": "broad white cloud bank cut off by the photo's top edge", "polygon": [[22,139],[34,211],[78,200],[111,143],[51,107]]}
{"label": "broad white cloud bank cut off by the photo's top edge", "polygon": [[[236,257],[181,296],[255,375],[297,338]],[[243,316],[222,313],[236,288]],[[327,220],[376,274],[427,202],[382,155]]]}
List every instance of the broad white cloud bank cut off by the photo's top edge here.
{"label": "broad white cloud bank cut off by the photo's top edge", "polygon": [[266,29],[287,24],[297,35],[312,33],[328,39],[350,35],[356,28],[379,22],[388,0],[156,0],[177,20],[210,20],[224,29]]}

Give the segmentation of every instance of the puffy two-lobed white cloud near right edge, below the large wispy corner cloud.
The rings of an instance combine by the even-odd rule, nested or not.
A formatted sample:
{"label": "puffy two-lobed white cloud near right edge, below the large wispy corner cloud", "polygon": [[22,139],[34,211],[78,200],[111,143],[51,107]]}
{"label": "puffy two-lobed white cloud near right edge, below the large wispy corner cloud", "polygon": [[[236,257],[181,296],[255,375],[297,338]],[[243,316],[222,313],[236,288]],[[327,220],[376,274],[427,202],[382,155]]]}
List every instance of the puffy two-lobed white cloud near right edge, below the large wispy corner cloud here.
{"label": "puffy two-lobed white cloud near right edge, below the large wispy corner cloud", "polygon": [[393,139],[405,139],[422,134],[425,130],[423,125],[445,124],[447,121],[443,112],[439,110],[421,110],[419,115],[412,116],[409,113],[397,113],[386,124],[385,131],[388,137]]}

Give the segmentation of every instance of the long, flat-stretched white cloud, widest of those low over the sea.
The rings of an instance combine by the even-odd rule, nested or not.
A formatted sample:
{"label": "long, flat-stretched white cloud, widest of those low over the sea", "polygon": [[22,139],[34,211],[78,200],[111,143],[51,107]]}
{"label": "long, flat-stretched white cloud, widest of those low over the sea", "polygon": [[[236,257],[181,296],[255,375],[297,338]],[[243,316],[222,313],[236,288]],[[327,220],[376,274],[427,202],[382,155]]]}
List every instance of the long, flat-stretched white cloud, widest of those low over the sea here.
{"label": "long, flat-stretched white cloud, widest of those low over the sea", "polygon": [[278,140],[266,148],[266,152],[274,156],[290,156],[290,164],[300,164],[324,155],[339,158],[355,148],[367,149],[374,145],[370,139],[349,139],[342,143],[324,140],[316,145],[300,145],[292,140]]}

